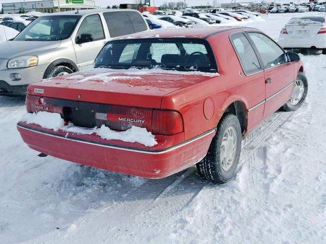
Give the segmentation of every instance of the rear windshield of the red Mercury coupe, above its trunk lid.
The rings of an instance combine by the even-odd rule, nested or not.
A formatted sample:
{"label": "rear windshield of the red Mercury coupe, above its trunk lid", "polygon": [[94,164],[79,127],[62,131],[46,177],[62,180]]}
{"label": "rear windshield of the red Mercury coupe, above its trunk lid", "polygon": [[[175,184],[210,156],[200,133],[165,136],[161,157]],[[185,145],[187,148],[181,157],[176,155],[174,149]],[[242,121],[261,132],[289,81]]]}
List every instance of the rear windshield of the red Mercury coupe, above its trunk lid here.
{"label": "rear windshield of the red Mercury coupe, above its trunk lid", "polygon": [[95,68],[161,68],[217,72],[209,44],[199,39],[129,39],[107,43],[95,60]]}

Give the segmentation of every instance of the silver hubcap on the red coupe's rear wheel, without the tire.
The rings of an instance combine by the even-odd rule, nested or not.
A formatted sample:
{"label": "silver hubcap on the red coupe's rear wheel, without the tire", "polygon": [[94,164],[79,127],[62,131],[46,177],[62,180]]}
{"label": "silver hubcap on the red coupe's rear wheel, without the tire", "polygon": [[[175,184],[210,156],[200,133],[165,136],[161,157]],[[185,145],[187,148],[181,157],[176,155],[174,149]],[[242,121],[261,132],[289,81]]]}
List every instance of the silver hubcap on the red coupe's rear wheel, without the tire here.
{"label": "silver hubcap on the red coupe's rear wheel, without the tire", "polygon": [[221,145],[221,164],[225,171],[228,171],[234,163],[237,140],[235,128],[233,126],[229,127],[223,136]]}

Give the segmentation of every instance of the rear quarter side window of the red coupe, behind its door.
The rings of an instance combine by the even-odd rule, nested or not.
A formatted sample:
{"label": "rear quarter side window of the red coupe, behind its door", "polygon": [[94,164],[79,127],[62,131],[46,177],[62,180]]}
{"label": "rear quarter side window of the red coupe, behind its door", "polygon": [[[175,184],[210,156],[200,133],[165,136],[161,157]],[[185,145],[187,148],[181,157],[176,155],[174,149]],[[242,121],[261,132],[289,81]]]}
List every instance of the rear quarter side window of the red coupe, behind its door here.
{"label": "rear quarter side window of the red coupe, behind its door", "polygon": [[250,75],[261,71],[257,55],[246,36],[242,33],[232,35],[231,40],[244,73]]}

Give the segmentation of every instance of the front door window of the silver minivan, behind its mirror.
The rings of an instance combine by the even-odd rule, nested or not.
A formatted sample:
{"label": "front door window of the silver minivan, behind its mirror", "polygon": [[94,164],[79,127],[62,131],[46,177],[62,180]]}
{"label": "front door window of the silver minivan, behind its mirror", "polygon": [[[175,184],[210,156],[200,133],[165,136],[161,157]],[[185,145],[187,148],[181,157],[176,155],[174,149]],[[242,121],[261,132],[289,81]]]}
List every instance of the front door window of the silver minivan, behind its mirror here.
{"label": "front door window of the silver minivan, behind its mirror", "polygon": [[91,34],[93,41],[104,39],[103,26],[98,14],[87,16],[80,25],[76,39],[82,34]]}

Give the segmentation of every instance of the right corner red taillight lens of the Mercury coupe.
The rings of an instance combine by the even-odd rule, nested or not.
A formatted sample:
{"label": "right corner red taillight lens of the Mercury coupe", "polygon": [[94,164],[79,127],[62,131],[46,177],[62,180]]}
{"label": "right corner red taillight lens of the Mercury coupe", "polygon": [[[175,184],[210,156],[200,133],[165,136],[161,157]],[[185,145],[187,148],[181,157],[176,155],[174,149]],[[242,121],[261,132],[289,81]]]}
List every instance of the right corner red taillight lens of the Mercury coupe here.
{"label": "right corner red taillight lens of the Mercury coupe", "polygon": [[180,113],[170,110],[154,109],[152,126],[154,135],[174,135],[183,131]]}

